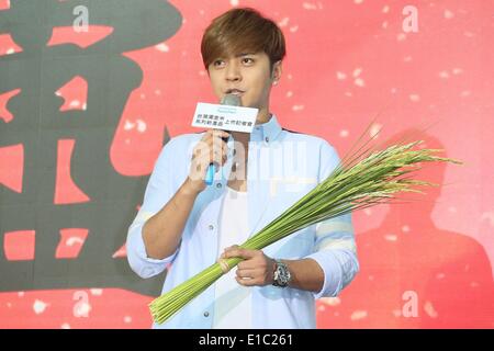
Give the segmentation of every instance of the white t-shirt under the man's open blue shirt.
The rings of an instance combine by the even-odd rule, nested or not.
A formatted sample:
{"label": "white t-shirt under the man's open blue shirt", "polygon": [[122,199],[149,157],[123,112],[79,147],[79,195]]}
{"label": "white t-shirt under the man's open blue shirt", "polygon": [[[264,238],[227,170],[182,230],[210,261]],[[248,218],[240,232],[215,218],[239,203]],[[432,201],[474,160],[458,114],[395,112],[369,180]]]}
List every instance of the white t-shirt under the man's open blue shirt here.
{"label": "white t-shirt under the man's open blue shirt", "polygon": [[[220,218],[220,254],[225,248],[248,239],[247,208],[247,192],[226,186]],[[215,329],[251,328],[251,290],[237,283],[236,270],[237,268],[233,268],[215,283]]]}

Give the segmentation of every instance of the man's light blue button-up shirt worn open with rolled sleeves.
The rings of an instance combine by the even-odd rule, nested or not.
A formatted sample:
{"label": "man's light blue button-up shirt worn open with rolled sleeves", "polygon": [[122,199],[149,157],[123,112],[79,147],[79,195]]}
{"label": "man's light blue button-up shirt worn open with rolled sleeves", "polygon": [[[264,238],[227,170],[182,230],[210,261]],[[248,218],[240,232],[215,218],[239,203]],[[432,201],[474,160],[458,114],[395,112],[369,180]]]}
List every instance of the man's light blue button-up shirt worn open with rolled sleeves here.
{"label": "man's light blue button-up shirt worn open with rolled sleeves", "polygon": [[[232,157],[215,173],[214,183],[195,199],[177,251],[162,260],[148,258],[142,237],[144,223],[160,211],[186,181],[193,147],[204,133],[171,138],[161,150],[146,188],[144,203],[127,235],[131,268],[142,278],[168,273],[162,293],[215,263],[218,252],[220,211]],[[228,150],[234,140],[229,137]],[[248,223],[250,235],[272,222],[339,163],[335,149],[324,139],[282,129],[272,115],[256,125],[247,160]],[[239,245],[242,242],[238,242]],[[263,249],[277,259],[311,258],[324,271],[319,292],[291,287],[254,286],[254,328],[315,328],[315,299],[337,296],[359,270],[351,215],[344,215],[299,230]],[[214,284],[178,314],[154,328],[212,328]]]}

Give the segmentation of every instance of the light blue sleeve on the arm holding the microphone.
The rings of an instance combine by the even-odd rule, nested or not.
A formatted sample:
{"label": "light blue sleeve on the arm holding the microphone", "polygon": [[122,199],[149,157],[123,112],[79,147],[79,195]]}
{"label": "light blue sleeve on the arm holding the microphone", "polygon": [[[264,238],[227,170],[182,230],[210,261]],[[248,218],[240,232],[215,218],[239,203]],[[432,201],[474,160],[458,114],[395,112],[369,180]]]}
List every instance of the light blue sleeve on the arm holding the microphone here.
{"label": "light blue sleeve on the arm holding the microphone", "polygon": [[150,278],[161,273],[168,263],[171,263],[179,249],[171,256],[157,260],[149,258],[143,240],[143,226],[147,219],[159,212],[165,204],[175,195],[178,182],[173,177],[177,165],[173,155],[177,154],[175,139],[169,140],[162,148],[149,178],[141,206],[134,222],[127,231],[127,260],[132,270],[142,278]]}

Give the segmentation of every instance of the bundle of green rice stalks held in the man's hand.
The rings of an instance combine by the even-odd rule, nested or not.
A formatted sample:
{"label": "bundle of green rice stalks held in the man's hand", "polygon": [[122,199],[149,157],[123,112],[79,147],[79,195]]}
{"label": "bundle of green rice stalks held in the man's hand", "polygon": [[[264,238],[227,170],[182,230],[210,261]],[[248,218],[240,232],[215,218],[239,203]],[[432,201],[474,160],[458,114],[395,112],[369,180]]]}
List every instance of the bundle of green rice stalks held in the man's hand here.
{"label": "bundle of green rice stalks held in the man's hand", "polygon": [[[393,203],[398,193],[420,192],[418,188],[423,185],[436,185],[411,178],[425,162],[461,163],[437,156],[441,150],[420,149],[417,147],[420,140],[401,141],[375,150],[368,146],[371,139],[358,141],[363,145],[341,160],[326,180],[240,247],[259,250],[313,224],[377,204]],[[154,320],[166,321],[240,261],[240,258],[220,260],[154,299],[149,304]]]}

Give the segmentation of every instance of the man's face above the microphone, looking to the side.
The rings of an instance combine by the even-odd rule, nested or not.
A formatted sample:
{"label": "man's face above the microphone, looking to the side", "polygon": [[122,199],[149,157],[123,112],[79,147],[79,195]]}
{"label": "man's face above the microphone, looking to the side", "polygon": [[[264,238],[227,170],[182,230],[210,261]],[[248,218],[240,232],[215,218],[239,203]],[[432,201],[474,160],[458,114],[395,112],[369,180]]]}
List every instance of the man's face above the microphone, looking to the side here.
{"label": "man's face above the microphone, looking to the side", "polygon": [[211,84],[221,100],[232,93],[240,97],[242,105],[269,112],[269,94],[281,75],[281,63],[274,64],[271,73],[266,53],[245,53],[218,57],[209,67]]}

